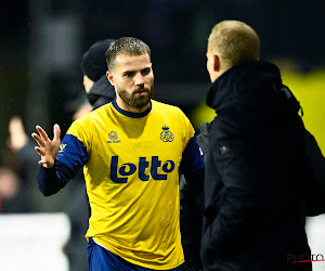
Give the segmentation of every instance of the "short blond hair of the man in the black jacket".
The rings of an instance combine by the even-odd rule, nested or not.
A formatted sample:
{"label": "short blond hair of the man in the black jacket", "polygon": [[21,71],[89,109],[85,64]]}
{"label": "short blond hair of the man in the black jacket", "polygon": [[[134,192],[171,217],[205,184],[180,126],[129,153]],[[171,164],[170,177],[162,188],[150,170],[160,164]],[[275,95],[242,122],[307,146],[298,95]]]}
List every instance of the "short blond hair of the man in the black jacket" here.
{"label": "short blond hair of the man in the black jacket", "polygon": [[208,51],[219,54],[224,65],[232,67],[260,57],[257,33],[239,21],[222,21],[214,25],[208,39]]}

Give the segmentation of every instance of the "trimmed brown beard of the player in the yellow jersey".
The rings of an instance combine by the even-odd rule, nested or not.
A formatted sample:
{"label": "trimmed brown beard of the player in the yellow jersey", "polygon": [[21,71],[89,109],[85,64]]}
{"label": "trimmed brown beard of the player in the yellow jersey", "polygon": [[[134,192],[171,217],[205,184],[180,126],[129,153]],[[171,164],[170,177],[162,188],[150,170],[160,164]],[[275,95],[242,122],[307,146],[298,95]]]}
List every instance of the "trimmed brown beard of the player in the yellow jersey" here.
{"label": "trimmed brown beard of the player in the yellow jersey", "polygon": [[[127,90],[119,88],[119,86],[115,86],[118,95],[120,96],[120,99],[130,107],[134,107],[134,108],[143,108],[144,106],[146,106],[153,94],[154,94],[154,83],[152,83],[151,88],[138,88],[135,89],[132,93],[128,93]],[[140,92],[145,92],[144,95],[136,95],[136,93]]]}

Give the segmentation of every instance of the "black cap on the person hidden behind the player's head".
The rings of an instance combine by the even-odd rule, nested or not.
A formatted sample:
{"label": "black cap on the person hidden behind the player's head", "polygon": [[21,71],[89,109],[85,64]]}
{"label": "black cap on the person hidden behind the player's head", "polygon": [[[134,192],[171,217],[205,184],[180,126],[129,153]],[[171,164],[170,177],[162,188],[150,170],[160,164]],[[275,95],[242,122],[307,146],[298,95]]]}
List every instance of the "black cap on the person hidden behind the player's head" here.
{"label": "black cap on the person hidden behind the player's head", "polygon": [[82,75],[87,75],[93,81],[105,75],[107,70],[105,52],[113,41],[113,39],[104,39],[88,49],[80,63]]}

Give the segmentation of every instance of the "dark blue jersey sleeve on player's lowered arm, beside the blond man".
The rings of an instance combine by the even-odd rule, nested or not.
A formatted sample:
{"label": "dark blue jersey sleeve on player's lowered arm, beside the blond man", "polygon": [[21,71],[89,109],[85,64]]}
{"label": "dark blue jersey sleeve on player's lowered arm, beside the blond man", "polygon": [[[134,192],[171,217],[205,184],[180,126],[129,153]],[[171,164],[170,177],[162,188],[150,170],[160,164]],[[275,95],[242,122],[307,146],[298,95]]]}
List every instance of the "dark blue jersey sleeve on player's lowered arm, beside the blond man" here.
{"label": "dark blue jersey sleeve on player's lowered arm, beside the blond man", "polygon": [[183,153],[180,170],[183,175],[196,172],[204,168],[204,159],[200,156],[198,145],[196,143],[196,136],[188,141],[186,149]]}

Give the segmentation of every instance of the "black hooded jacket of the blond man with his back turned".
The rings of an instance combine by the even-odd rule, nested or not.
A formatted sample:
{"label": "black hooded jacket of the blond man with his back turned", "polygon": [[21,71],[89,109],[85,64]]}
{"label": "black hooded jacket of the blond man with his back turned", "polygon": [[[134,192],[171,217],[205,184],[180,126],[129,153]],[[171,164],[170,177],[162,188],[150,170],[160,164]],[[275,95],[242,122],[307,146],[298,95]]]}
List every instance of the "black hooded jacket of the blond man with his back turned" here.
{"label": "black hooded jacket of the blond man with his back turned", "polygon": [[207,105],[202,259],[205,270],[311,270],[304,232],[304,127],[270,63],[232,67]]}

